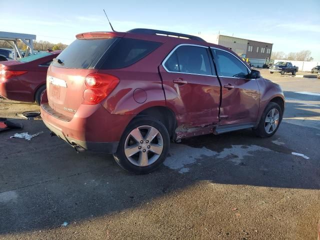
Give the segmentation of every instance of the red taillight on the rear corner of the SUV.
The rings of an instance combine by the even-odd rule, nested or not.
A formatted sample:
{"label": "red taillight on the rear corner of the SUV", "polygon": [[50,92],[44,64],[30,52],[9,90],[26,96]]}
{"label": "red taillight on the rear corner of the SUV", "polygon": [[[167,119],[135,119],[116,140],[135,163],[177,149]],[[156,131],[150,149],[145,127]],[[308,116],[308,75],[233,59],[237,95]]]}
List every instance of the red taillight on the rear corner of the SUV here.
{"label": "red taillight on the rear corner of the SUV", "polygon": [[96,104],[103,100],[119,83],[119,78],[110,74],[91,73],[85,77],[83,104]]}

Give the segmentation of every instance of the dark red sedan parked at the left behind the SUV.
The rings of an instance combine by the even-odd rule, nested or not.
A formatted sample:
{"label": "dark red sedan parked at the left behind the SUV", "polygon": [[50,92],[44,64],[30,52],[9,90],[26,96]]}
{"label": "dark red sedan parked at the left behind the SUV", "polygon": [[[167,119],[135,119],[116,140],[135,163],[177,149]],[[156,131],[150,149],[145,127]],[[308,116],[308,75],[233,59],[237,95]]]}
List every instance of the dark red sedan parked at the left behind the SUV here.
{"label": "dark red sedan parked at the left behind the SUV", "polygon": [[18,60],[0,63],[0,96],[40,105],[45,90],[46,71],[61,51],[41,52]]}

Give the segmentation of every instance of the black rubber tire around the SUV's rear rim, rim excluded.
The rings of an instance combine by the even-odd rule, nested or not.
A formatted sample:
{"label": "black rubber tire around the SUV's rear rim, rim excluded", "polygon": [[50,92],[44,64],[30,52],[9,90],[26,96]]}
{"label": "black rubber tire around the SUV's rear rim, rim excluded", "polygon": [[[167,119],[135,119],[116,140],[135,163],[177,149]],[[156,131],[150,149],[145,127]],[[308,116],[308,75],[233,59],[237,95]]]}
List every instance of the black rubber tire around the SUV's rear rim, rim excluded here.
{"label": "black rubber tire around the SUV's rear rim, rim excluded", "polygon": [[[125,153],[124,153],[124,148],[125,148],[125,141],[127,136],[129,135],[129,133],[136,127],[139,126],[151,126],[156,128],[159,133],[162,136],[162,140],[163,140],[163,148],[162,148],[162,152],[160,153],[159,157],[156,159],[155,162],[153,162],[150,165],[147,166],[137,166],[134,165],[133,163],[130,162],[130,160],[126,157]],[[124,170],[135,173],[135,174],[145,174],[145,173],[149,173],[151,171],[154,171],[156,168],[158,168],[163,161],[166,158],[166,155],[169,151],[170,148],[170,137],[169,137],[169,133],[167,131],[167,129],[165,128],[165,126],[162,124],[162,122],[160,122],[159,120],[149,117],[149,116],[141,116],[138,117],[136,119],[133,119],[125,128],[121,139],[119,141],[119,145],[118,148],[116,150],[116,153],[113,154],[114,160],[116,161],[116,163],[122,167]]]}

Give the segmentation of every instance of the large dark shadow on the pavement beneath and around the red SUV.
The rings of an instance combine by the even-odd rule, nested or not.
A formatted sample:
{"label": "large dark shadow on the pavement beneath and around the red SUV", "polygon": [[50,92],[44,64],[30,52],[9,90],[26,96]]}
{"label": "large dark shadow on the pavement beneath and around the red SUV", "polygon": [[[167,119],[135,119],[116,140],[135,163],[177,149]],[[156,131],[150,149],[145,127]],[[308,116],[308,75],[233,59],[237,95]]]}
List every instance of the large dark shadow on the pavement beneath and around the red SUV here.
{"label": "large dark shadow on the pavement beneath and around the red SUV", "polygon": [[[241,130],[183,139],[171,144],[164,166],[134,175],[119,168],[110,155],[77,154],[50,137],[41,121],[23,122],[24,129],[18,132],[44,133],[31,141],[9,139],[15,131],[0,135],[0,234],[121,212],[200,180],[320,189],[319,131],[311,127],[283,122],[271,138]],[[179,164],[169,164],[174,160]]]}

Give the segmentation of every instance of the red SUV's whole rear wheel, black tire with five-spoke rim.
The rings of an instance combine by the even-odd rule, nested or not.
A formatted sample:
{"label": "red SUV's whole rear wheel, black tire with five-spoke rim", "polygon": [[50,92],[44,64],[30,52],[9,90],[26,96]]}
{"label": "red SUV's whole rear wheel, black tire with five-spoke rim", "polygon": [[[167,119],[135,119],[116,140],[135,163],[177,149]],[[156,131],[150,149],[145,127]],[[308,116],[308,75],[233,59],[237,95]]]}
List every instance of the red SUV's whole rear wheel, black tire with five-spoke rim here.
{"label": "red SUV's whole rear wheel, black tire with five-spoke rim", "polygon": [[148,116],[139,117],[126,127],[113,156],[123,169],[144,174],[162,164],[169,146],[169,133],[160,121]]}

